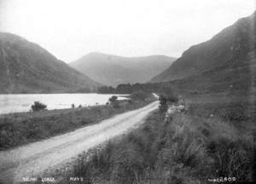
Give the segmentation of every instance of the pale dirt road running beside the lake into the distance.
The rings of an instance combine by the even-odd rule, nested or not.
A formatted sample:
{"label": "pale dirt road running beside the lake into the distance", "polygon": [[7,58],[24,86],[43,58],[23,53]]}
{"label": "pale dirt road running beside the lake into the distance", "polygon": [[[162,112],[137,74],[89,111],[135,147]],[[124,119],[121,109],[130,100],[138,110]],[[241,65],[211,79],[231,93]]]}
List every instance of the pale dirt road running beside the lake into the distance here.
{"label": "pale dirt road running beside the lake into the distance", "polygon": [[17,183],[22,177],[37,175],[56,164],[65,164],[79,153],[136,128],[157,107],[158,102],[154,101],[148,106],[119,114],[100,124],[0,152],[0,183]]}

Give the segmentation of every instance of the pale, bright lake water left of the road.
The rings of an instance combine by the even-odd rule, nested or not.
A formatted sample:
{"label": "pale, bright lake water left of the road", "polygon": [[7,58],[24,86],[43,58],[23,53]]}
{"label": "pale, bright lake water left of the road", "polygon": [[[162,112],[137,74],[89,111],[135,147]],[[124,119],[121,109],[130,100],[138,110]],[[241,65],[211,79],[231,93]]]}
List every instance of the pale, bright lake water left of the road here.
{"label": "pale, bright lake water left of the road", "polygon": [[[106,104],[113,95],[102,94],[20,94],[0,95],[0,114],[29,112],[34,101],[43,102],[47,109],[64,109],[75,106],[95,106]],[[117,95],[119,96],[119,95]],[[125,99],[119,96],[118,100]]]}

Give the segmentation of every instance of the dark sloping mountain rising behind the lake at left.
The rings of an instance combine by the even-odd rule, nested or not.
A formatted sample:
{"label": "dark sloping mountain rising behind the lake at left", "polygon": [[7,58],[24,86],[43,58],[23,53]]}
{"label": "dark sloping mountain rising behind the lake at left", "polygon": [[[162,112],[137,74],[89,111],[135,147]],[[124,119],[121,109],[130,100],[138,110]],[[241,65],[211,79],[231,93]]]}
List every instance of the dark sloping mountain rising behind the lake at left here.
{"label": "dark sloping mountain rising behind the lake at left", "polygon": [[74,92],[99,85],[38,44],[0,32],[1,94]]}

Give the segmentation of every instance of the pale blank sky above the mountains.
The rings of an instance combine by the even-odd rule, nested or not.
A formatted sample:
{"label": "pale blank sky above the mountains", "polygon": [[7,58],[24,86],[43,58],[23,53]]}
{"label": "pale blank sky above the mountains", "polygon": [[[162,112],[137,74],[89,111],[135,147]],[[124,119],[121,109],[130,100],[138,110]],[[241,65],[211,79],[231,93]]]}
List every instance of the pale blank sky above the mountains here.
{"label": "pale blank sky above the mountains", "polygon": [[241,17],[256,0],[0,0],[0,32],[70,62],[90,52],[179,57]]}

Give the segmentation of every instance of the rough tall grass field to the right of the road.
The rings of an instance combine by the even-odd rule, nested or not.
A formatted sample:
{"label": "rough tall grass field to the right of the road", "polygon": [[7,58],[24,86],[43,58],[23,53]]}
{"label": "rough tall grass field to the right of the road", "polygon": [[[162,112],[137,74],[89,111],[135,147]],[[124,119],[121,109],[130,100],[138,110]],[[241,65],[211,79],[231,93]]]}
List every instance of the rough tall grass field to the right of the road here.
{"label": "rough tall grass field to the right of the road", "polygon": [[254,181],[252,106],[190,103],[188,112],[167,120],[154,112],[140,129],[109,141],[89,161],[79,158],[68,176],[83,177],[84,183]]}

